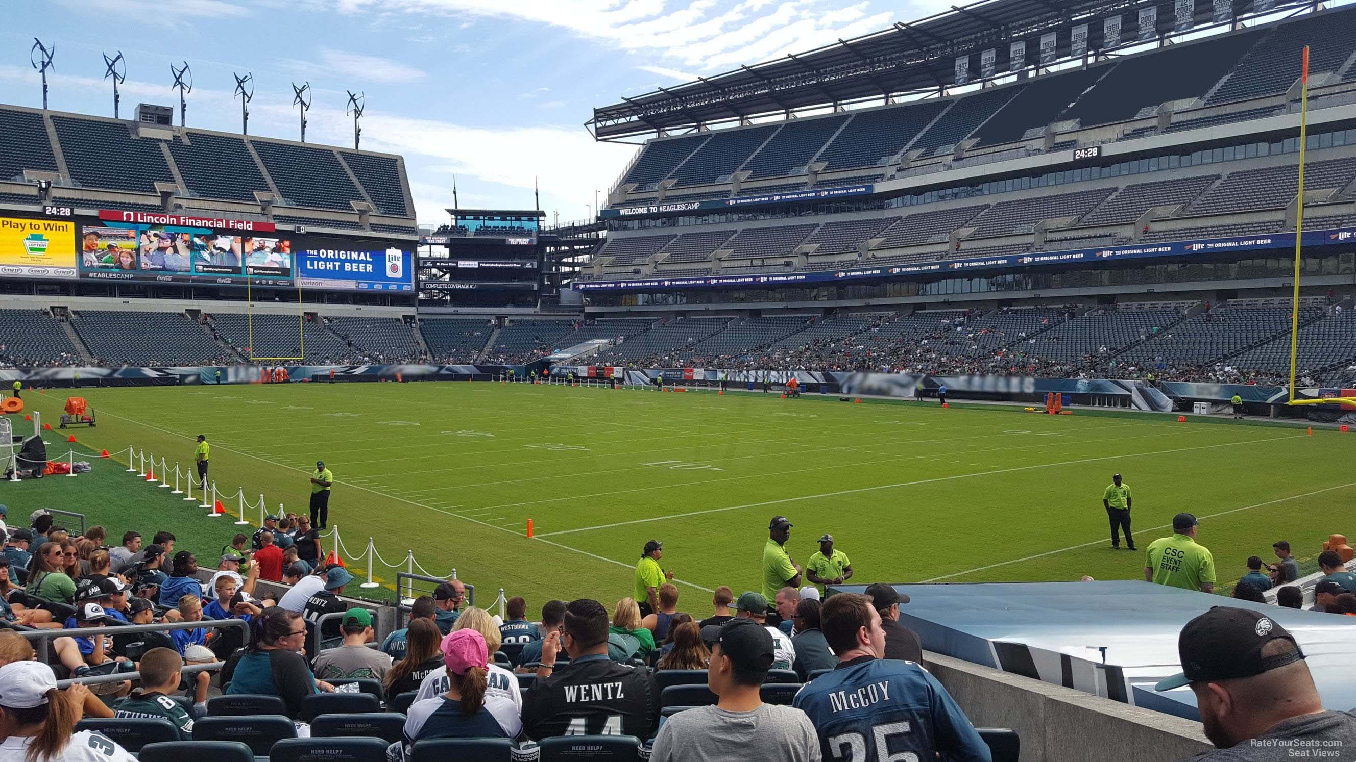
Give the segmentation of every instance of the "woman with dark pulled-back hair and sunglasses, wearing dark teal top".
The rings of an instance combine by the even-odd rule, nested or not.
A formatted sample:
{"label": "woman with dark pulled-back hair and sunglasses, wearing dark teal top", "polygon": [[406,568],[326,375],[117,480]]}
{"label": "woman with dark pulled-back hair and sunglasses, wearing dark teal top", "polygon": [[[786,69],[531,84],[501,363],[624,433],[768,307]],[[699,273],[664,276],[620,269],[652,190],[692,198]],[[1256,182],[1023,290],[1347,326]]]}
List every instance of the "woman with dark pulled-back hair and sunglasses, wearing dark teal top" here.
{"label": "woman with dark pulled-back hair and sunglasses, wearing dark teal top", "polygon": [[250,644],[231,674],[225,694],[277,696],[287,716],[301,716],[301,698],[334,686],[317,681],[301,649],[306,644],[306,622],[301,614],[281,606],[266,609],[250,624]]}

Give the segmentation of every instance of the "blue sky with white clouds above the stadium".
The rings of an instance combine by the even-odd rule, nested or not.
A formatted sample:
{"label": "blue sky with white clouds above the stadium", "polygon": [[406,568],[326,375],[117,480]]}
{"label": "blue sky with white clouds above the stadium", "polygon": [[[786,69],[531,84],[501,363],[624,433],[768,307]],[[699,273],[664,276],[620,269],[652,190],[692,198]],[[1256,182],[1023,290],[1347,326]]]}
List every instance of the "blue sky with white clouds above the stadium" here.
{"label": "blue sky with white clouds above the stadium", "polygon": [[[33,38],[57,46],[54,110],[113,115],[100,53],[127,61],[122,117],[175,106],[188,126],[239,132],[232,72],[252,72],[250,133],[296,140],[292,81],[309,81],[306,140],[353,145],[344,89],[367,98],[362,146],[405,157],[420,222],[462,206],[586,217],[635,153],[597,144],[594,106],[913,20],[937,0],[11,0],[0,102],[41,106]],[[178,115],[176,115],[178,123]]]}

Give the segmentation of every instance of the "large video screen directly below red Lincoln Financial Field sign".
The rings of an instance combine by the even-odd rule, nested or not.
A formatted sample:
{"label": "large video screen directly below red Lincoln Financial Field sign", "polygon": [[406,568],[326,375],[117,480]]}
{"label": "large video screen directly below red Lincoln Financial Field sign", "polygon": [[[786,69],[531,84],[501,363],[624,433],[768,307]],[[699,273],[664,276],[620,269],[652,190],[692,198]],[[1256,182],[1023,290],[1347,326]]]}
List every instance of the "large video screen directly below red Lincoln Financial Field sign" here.
{"label": "large video screen directly below red Lincoln Financial Field sign", "polygon": [[80,277],[118,281],[292,285],[292,240],[207,228],[85,225]]}

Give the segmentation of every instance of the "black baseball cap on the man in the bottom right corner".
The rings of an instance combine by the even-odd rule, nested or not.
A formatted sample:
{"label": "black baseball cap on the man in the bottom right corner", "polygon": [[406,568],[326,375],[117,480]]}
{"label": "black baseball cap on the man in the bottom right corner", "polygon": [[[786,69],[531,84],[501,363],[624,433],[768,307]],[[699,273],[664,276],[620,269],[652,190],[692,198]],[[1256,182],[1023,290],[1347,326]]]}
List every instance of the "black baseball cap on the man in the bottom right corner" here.
{"label": "black baseball cap on the man in the bottom right corner", "polygon": [[[1262,647],[1284,639],[1295,648],[1262,656]],[[1181,674],[1158,681],[1154,690],[1172,690],[1193,682],[1250,678],[1304,658],[1295,637],[1262,611],[1214,606],[1186,622],[1177,636]]]}

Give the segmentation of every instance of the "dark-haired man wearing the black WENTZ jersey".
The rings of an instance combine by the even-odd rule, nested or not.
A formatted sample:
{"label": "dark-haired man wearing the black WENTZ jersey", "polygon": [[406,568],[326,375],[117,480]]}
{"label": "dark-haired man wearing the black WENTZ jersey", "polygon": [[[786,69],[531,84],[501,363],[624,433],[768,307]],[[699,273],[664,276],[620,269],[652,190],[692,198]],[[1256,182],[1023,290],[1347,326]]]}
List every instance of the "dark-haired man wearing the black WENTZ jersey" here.
{"label": "dark-haired man wearing the black WENTZ jersey", "polygon": [[[570,663],[556,673],[561,645]],[[602,685],[613,690],[599,691]],[[525,735],[541,740],[606,731],[651,738],[658,716],[659,689],[650,671],[607,658],[607,609],[587,598],[572,601],[561,630],[542,641],[537,683],[522,706]]]}

